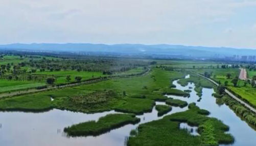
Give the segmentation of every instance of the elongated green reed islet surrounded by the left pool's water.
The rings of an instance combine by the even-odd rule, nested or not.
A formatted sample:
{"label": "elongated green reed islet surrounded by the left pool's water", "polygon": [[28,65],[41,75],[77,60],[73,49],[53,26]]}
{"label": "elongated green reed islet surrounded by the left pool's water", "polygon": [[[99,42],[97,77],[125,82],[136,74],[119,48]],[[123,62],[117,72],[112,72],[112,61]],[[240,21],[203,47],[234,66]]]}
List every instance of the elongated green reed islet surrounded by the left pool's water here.
{"label": "elongated green reed islet surrounded by the left pool's water", "polygon": [[136,124],[139,120],[133,114],[108,114],[101,117],[98,121],[87,121],[64,128],[64,132],[68,136],[97,136],[127,124]]}

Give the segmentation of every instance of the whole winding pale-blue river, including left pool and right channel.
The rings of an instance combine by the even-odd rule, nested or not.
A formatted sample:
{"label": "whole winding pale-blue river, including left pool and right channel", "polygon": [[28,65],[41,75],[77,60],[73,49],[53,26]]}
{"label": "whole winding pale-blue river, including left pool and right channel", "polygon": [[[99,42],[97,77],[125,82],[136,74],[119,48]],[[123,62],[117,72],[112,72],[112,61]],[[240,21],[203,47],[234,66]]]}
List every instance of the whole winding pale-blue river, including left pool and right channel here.
{"label": "whole winding pale-blue river, including left pool and right channel", "polygon": [[[189,76],[186,76],[189,78]],[[217,105],[216,99],[212,96],[213,89],[203,88],[202,99],[197,102],[199,97],[194,91],[195,85],[190,83],[188,86],[182,87],[173,82],[177,89],[186,90],[192,87],[190,98],[168,95],[174,99],[181,99],[188,103],[195,102],[197,106],[211,112],[209,116],[216,117],[230,127],[229,133],[235,137],[235,143],[231,145],[256,145],[256,132],[250,128],[245,121],[241,120],[226,105]],[[165,104],[156,102],[158,104]],[[173,107],[172,111],[167,114],[181,112],[187,110],[188,107]],[[53,109],[43,113],[25,113],[25,112],[0,112],[0,144],[5,146],[26,145],[26,146],[55,146],[55,145],[125,145],[126,137],[132,129],[136,129],[139,124],[157,120],[158,117],[155,107],[152,112],[138,115],[141,118],[140,123],[136,125],[126,125],[118,129],[111,130],[100,136],[87,137],[67,137],[63,132],[64,127],[78,124],[88,120],[98,120],[100,117],[109,113],[117,113],[115,111],[107,111],[102,113],[85,114],[79,112],[62,111]],[[165,115],[167,115],[165,114]],[[164,115],[164,116],[165,116]],[[181,124],[183,127],[189,127]],[[196,134],[196,127],[192,127],[193,133]]]}

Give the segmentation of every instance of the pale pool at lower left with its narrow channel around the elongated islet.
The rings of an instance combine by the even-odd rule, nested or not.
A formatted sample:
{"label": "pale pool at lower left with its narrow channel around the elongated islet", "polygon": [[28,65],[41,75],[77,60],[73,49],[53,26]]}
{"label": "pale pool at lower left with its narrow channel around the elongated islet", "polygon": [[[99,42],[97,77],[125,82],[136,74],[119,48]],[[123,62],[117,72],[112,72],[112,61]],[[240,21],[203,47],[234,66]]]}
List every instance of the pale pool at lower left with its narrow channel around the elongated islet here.
{"label": "pale pool at lower left with its narrow channel around the elongated islet", "polygon": [[[165,102],[156,102],[156,105],[165,105]],[[185,111],[188,108],[173,107],[167,114]],[[114,129],[100,136],[87,137],[67,137],[63,129],[73,124],[89,120],[98,120],[100,117],[110,113],[108,111],[95,114],[84,114],[79,112],[62,111],[58,109],[43,113],[24,112],[0,112],[1,122],[5,125],[0,130],[1,145],[124,145],[125,139],[132,129],[136,129],[139,124],[157,120],[155,107],[152,112],[138,115],[141,122],[136,125],[126,125],[119,129]],[[165,115],[167,115],[165,114]],[[15,140],[13,140],[15,139]]]}

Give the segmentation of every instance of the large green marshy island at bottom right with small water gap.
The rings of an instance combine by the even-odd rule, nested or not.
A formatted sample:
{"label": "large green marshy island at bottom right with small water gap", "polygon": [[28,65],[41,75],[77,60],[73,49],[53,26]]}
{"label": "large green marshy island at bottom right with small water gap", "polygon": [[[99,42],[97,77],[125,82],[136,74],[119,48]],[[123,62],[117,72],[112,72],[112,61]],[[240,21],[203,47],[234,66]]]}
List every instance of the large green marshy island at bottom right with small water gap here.
{"label": "large green marshy island at bottom right with small water gap", "polygon": [[[207,117],[199,113],[195,104],[190,109],[174,113],[162,119],[139,125],[135,136],[130,136],[129,146],[135,145],[218,145],[234,142],[234,138],[225,133],[229,130],[216,118]],[[180,123],[188,123],[199,127],[200,136],[190,135],[187,131],[179,129]]]}

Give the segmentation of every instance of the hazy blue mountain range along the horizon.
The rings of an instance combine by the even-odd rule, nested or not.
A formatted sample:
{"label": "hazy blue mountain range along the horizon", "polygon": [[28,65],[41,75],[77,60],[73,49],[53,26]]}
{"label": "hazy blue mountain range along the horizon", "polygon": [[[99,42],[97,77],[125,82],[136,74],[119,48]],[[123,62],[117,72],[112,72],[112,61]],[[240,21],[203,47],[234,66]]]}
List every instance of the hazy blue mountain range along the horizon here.
{"label": "hazy blue mountain range along the horizon", "polygon": [[188,57],[256,56],[256,50],[230,47],[184,46],[170,44],[90,44],[90,43],[32,43],[0,45],[1,50],[118,53],[126,55],[165,55]]}

